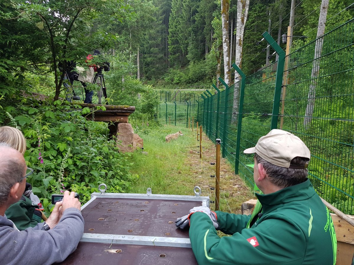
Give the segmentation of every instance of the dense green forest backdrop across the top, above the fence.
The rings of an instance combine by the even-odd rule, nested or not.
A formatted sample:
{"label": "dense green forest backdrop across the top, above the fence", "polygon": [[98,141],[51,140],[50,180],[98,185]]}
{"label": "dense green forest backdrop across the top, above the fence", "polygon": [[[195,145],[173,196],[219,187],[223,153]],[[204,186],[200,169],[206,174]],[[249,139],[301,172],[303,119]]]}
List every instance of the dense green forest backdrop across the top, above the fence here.
{"label": "dense green forest backdrop across the top, above the fence", "polygon": [[[292,4],[292,49],[316,37],[320,0],[239,1],[243,4],[241,15],[248,8],[248,15],[242,18],[240,15],[237,18],[237,2],[2,1],[1,85],[21,83],[23,73],[27,72],[50,73],[58,90],[58,61],[83,60],[95,48],[119,58],[116,64],[121,76],[128,73],[137,79],[164,80],[177,85],[216,82],[218,72],[222,77],[224,74],[221,4],[226,5],[224,14],[225,8],[228,13],[229,60],[233,63],[242,56],[246,75],[275,60],[275,56],[267,59],[269,49],[262,52],[264,44],[256,46],[264,31],[285,48],[281,35],[286,34],[290,23]],[[345,9],[351,4],[351,0],[329,1],[326,32],[353,17],[353,8]],[[242,54],[236,47],[240,44],[236,36],[237,31],[242,31],[241,20],[245,23]]]}

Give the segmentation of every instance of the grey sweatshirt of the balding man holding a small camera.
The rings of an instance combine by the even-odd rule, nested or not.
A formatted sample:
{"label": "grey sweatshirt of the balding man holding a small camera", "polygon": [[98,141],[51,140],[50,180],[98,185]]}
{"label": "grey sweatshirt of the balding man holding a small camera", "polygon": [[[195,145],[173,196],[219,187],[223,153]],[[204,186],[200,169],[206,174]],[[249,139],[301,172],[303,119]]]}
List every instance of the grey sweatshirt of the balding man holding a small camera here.
{"label": "grey sweatshirt of the balding man holding a small camera", "polygon": [[84,218],[76,208],[64,211],[60,222],[48,231],[43,223],[18,231],[0,216],[0,263],[31,265],[61,262],[76,249],[84,233]]}

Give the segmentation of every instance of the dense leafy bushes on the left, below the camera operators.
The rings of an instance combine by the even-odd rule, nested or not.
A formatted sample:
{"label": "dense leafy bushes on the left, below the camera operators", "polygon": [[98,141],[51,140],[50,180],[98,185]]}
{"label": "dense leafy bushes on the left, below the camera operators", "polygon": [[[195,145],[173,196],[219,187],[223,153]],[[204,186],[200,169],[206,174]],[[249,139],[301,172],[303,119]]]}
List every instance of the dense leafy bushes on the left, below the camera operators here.
{"label": "dense leafy bushes on the left, below the camera operators", "polygon": [[[19,125],[27,139],[25,160],[35,173],[27,180],[33,192],[49,199],[60,190],[73,190],[82,202],[105,183],[109,192],[129,192],[138,175],[130,173],[130,154],[119,153],[114,140],[108,140],[107,123],[90,122],[87,112],[55,101],[54,107],[29,98],[4,101],[9,115],[0,114],[3,124]],[[13,117],[13,118],[12,118]],[[41,158],[43,163],[41,163]],[[63,184],[63,186],[61,186]],[[47,202],[48,200],[44,200]],[[46,208],[48,210],[48,208]]]}

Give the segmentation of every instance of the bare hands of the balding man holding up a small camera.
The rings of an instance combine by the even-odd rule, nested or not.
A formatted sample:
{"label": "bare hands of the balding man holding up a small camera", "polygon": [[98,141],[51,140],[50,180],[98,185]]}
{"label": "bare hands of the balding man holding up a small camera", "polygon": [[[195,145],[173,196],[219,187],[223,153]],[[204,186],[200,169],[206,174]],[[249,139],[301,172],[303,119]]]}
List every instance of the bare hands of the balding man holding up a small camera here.
{"label": "bare hands of the balding man holding up a small camera", "polygon": [[75,192],[70,193],[68,190],[65,190],[63,200],[55,204],[52,213],[46,220],[50,229],[53,229],[59,223],[64,211],[72,207],[81,210],[79,199],[75,198]]}

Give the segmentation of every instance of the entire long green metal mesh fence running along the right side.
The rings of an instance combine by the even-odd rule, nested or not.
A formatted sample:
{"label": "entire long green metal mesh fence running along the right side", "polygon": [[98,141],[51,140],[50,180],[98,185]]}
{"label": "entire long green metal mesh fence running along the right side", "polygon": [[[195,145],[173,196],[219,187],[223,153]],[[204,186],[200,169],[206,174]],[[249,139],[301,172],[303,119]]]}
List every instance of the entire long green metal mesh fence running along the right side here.
{"label": "entire long green metal mesh fence running along the right side", "polygon": [[[270,36],[265,39],[284,54]],[[354,214],[354,19],[290,53],[284,67],[282,58],[250,76],[239,72],[242,82],[215,95],[205,92],[194,117],[213,142],[221,138],[223,157],[250,188],[253,155],[243,151],[274,128],[297,135],[311,151],[315,190]],[[184,106],[181,122],[187,122],[186,112]],[[160,105],[160,120],[166,122],[166,104]]]}

